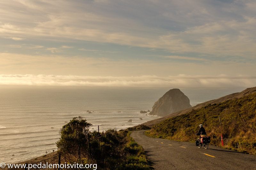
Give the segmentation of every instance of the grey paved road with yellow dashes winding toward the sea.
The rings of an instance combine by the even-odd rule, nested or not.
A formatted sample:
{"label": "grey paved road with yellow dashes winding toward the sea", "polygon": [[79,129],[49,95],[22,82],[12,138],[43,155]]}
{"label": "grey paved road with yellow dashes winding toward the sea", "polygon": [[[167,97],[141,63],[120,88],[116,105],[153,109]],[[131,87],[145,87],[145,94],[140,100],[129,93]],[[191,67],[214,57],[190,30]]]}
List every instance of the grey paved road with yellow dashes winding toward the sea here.
{"label": "grey paved road with yellow dashes winding toward the sea", "polygon": [[150,138],[144,131],[133,131],[131,137],[143,146],[156,170],[256,170],[256,156],[217,146],[198,148],[194,143]]}

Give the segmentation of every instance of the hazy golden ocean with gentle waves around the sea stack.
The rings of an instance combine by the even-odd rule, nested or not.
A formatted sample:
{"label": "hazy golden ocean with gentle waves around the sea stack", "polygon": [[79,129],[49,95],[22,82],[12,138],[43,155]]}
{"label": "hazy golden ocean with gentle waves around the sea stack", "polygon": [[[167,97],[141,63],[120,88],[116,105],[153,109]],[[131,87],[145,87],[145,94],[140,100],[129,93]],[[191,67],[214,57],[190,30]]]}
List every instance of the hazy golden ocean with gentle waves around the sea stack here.
{"label": "hazy golden ocean with gentle waves around the sea stack", "polygon": [[[0,87],[0,162],[17,163],[56,151],[59,131],[73,117],[91,131],[125,129],[158,118],[140,113],[173,88]],[[239,88],[179,88],[195,106]],[[92,113],[87,112],[87,110]],[[140,120],[142,118],[142,120]],[[132,119],[132,122],[128,122]]]}

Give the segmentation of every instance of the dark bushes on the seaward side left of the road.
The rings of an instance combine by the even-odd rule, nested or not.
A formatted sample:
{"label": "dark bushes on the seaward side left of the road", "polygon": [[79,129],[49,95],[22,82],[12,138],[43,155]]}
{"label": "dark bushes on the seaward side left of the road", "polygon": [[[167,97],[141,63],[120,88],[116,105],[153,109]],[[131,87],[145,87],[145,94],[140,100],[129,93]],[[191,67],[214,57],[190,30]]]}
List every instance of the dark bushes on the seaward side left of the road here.
{"label": "dark bushes on the seaward side left of the road", "polygon": [[97,169],[104,170],[152,169],[142,146],[129,136],[128,131],[90,132],[90,126],[82,117],[74,117],[62,127],[56,144],[64,162],[97,164]]}

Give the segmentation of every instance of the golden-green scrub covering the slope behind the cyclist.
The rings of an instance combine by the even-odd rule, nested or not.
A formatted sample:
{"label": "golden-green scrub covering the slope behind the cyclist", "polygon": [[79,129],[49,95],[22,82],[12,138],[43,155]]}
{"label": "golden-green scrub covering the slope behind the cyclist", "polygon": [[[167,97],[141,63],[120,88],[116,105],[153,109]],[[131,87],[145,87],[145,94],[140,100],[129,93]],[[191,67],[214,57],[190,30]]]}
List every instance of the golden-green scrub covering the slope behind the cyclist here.
{"label": "golden-green scrub covering the slope behind the cyclist", "polygon": [[[219,121],[219,116],[221,124]],[[156,138],[194,142],[203,124],[212,145],[256,155],[256,93],[171,117],[156,124],[146,134]]]}

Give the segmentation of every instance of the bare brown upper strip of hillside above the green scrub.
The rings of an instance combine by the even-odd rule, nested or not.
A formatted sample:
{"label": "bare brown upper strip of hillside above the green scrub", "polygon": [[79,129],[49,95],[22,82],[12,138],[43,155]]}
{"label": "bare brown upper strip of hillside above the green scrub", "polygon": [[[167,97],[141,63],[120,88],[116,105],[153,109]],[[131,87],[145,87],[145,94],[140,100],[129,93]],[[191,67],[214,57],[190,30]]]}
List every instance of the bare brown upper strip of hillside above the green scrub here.
{"label": "bare brown upper strip of hillside above the green scrub", "polygon": [[145,123],[143,123],[143,125],[146,125],[148,127],[152,127],[154,124],[160,123],[160,122],[164,121],[167,118],[174,117],[174,116],[177,116],[177,115],[182,115],[182,114],[188,113],[192,110],[196,110],[196,109],[202,108],[204,106],[207,106],[209,104],[221,103],[221,102],[224,102],[224,101],[227,101],[227,100],[241,98],[243,96],[250,95],[254,92],[256,92],[256,87],[247,88],[247,89],[243,90],[240,93],[233,93],[233,94],[230,94],[230,95],[227,95],[227,96],[224,96],[224,97],[220,97],[220,98],[215,99],[215,100],[210,100],[210,101],[207,101],[207,102],[204,102],[204,103],[200,103],[200,104],[197,104],[196,106],[193,106],[193,107],[185,109],[185,110],[178,111],[176,113],[167,115],[165,117],[161,117],[161,118],[158,118],[158,119],[155,119],[155,120],[145,122]]}

